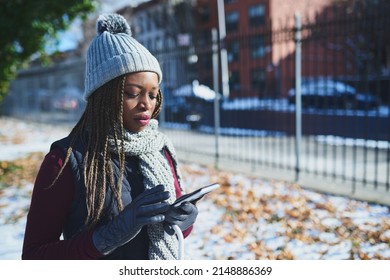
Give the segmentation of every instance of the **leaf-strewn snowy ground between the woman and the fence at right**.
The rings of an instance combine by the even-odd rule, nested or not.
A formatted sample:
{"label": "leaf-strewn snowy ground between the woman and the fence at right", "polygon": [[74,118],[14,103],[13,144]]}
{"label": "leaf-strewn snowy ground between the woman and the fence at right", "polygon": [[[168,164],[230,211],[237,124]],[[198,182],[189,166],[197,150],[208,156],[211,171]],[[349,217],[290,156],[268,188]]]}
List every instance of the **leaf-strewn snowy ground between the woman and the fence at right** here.
{"label": "leaf-strewn snowy ground between the woman and the fence at right", "polygon": [[[192,258],[390,259],[388,207],[191,169],[198,169],[193,183],[219,176],[224,186],[199,202],[200,217],[187,243]],[[185,177],[191,180],[189,172]]]}

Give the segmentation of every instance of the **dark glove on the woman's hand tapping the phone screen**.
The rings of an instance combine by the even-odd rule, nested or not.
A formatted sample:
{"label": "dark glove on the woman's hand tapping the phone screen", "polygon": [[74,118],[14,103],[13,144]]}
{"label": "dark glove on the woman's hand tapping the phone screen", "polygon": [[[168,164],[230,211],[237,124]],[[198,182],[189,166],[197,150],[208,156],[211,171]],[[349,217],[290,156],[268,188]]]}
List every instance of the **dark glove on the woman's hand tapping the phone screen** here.
{"label": "dark glove on the woman's hand tapping the phone screen", "polygon": [[96,249],[107,255],[133,239],[142,226],[163,222],[163,213],[169,209],[164,200],[169,196],[163,185],[141,193],[119,215],[93,232]]}

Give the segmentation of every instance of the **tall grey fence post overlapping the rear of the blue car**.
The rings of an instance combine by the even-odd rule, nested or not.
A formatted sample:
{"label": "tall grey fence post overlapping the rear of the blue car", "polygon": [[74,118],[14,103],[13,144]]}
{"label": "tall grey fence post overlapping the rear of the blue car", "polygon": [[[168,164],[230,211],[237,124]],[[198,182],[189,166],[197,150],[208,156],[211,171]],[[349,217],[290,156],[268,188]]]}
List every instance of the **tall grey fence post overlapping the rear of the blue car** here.
{"label": "tall grey fence post overlapping the rear of the blue car", "polygon": [[301,98],[301,17],[295,13],[295,181],[299,180],[302,144],[302,98]]}

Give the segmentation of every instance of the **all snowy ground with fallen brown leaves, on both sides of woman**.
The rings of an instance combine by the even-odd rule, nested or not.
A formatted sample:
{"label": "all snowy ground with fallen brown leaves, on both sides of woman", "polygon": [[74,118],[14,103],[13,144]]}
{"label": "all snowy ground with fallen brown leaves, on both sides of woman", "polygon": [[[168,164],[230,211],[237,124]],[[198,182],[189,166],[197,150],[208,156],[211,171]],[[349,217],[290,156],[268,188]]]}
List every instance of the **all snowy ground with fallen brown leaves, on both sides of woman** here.
{"label": "all snowy ground with fallen brown leaves, on both sides of woman", "polygon": [[[69,129],[0,118],[0,164],[46,153]],[[211,182],[221,185],[197,204],[199,216],[185,240],[186,259],[390,259],[386,206],[195,163],[183,163],[182,174],[187,191]],[[20,259],[33,185],[3,183],[0,259]]]}

